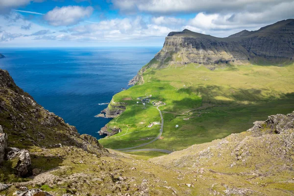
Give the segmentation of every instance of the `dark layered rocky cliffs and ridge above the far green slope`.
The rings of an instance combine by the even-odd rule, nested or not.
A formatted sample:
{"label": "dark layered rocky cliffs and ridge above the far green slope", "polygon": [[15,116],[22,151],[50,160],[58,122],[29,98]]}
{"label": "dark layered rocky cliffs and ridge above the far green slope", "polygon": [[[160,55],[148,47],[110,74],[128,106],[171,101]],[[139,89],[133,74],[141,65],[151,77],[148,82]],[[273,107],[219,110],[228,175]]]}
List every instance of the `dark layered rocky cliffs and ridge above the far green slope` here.
{"label": "dark layered rocky cliffs and ridge above the far green slope", "polygon": [[196,33],[188,29],[171,32],[163,48],[129,84],[142,84],[148,68],[166,68],[189,63],[210,67],[217,64],[282,64],[293,61],[294,19],[268,25],[256,31],[243,30],[227,38]]}

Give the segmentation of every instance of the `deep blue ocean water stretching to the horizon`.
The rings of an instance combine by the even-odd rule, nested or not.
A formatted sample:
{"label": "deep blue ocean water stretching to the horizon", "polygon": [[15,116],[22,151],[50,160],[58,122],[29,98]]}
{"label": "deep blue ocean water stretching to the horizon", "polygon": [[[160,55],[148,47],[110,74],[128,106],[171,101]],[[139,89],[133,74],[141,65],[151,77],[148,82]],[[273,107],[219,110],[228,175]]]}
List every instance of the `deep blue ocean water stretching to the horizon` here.
{"label": "deep blue ocean water stretching to the horizon", "polygon": [[2,48],[0,69],[40,105],[98,139],[95,118],[160,48]]}

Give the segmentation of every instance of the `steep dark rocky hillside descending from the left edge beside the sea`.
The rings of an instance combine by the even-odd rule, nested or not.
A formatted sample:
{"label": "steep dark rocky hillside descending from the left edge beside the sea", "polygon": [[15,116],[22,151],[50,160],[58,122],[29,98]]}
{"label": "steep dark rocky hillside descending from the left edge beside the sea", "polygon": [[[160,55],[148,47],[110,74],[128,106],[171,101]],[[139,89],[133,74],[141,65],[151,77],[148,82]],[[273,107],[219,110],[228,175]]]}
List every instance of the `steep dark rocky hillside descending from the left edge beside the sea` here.
{"label": "steep dark rocky hillside descending from the left edge beside the sea", "polygon": [[93,153],[104,152],[101,145],[89,146],[89,137],[80,137],[74,126],[37,104],[5,70],[0,70],[0,125],[8,136],[9,147],[60,144],[89,149]]}

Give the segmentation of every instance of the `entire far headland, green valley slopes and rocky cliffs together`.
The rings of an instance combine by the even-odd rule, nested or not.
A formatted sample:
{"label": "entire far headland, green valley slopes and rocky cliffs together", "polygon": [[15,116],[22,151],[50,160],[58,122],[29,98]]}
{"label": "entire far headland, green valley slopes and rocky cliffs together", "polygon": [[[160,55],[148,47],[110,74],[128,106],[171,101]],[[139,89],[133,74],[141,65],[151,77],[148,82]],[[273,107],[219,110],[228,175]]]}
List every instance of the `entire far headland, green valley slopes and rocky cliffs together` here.
{"label": "entire far headland, green valley slopes and rocky cliffs together", "polygon": [[[293,19],[227,38],[187,29],[169,33],[130,81],[135,86],[115,95],[99,115],[115,117],[101,129],[109,137],[100,143],[181,150],[245,131],[265,116],[292,112],[293,34]],[[152,103],[159,101],[165,104]],[[162,120],[162,131],[158,124],[148,127]]]}

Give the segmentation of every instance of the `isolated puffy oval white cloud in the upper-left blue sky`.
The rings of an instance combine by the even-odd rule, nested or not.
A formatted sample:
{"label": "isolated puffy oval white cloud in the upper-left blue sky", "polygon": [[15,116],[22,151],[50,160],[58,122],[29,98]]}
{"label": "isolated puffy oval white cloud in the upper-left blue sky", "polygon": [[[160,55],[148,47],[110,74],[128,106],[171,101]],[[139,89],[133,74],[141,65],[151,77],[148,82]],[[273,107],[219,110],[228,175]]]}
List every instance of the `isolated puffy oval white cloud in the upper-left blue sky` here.
{"label": "isolated puffy oval white cloud in the upper-left blue sky", "polygon": [[93,13],[93,10],[94,9],[91,6],[55,7],[44,16],[44,19],[53,26],[76,25],[84,18],[90,17]]}

